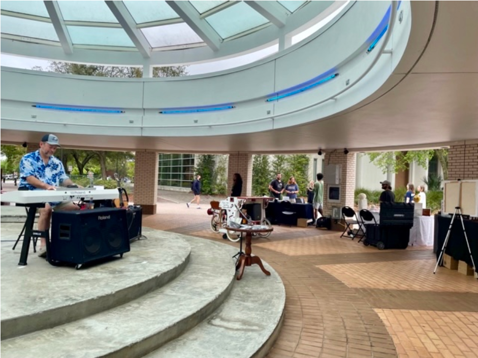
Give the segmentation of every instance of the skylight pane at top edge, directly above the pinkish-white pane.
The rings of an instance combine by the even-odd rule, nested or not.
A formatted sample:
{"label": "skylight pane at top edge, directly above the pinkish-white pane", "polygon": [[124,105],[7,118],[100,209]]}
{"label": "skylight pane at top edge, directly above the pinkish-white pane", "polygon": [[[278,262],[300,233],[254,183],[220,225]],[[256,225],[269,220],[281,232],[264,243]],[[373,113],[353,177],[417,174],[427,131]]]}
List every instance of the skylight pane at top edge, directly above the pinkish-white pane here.
{"label": "skylight pane at top edge, directly above the pinkish-white pane", "polygon": [[178,19],[179,15],[165,1],[123,1],[137,24]]}

